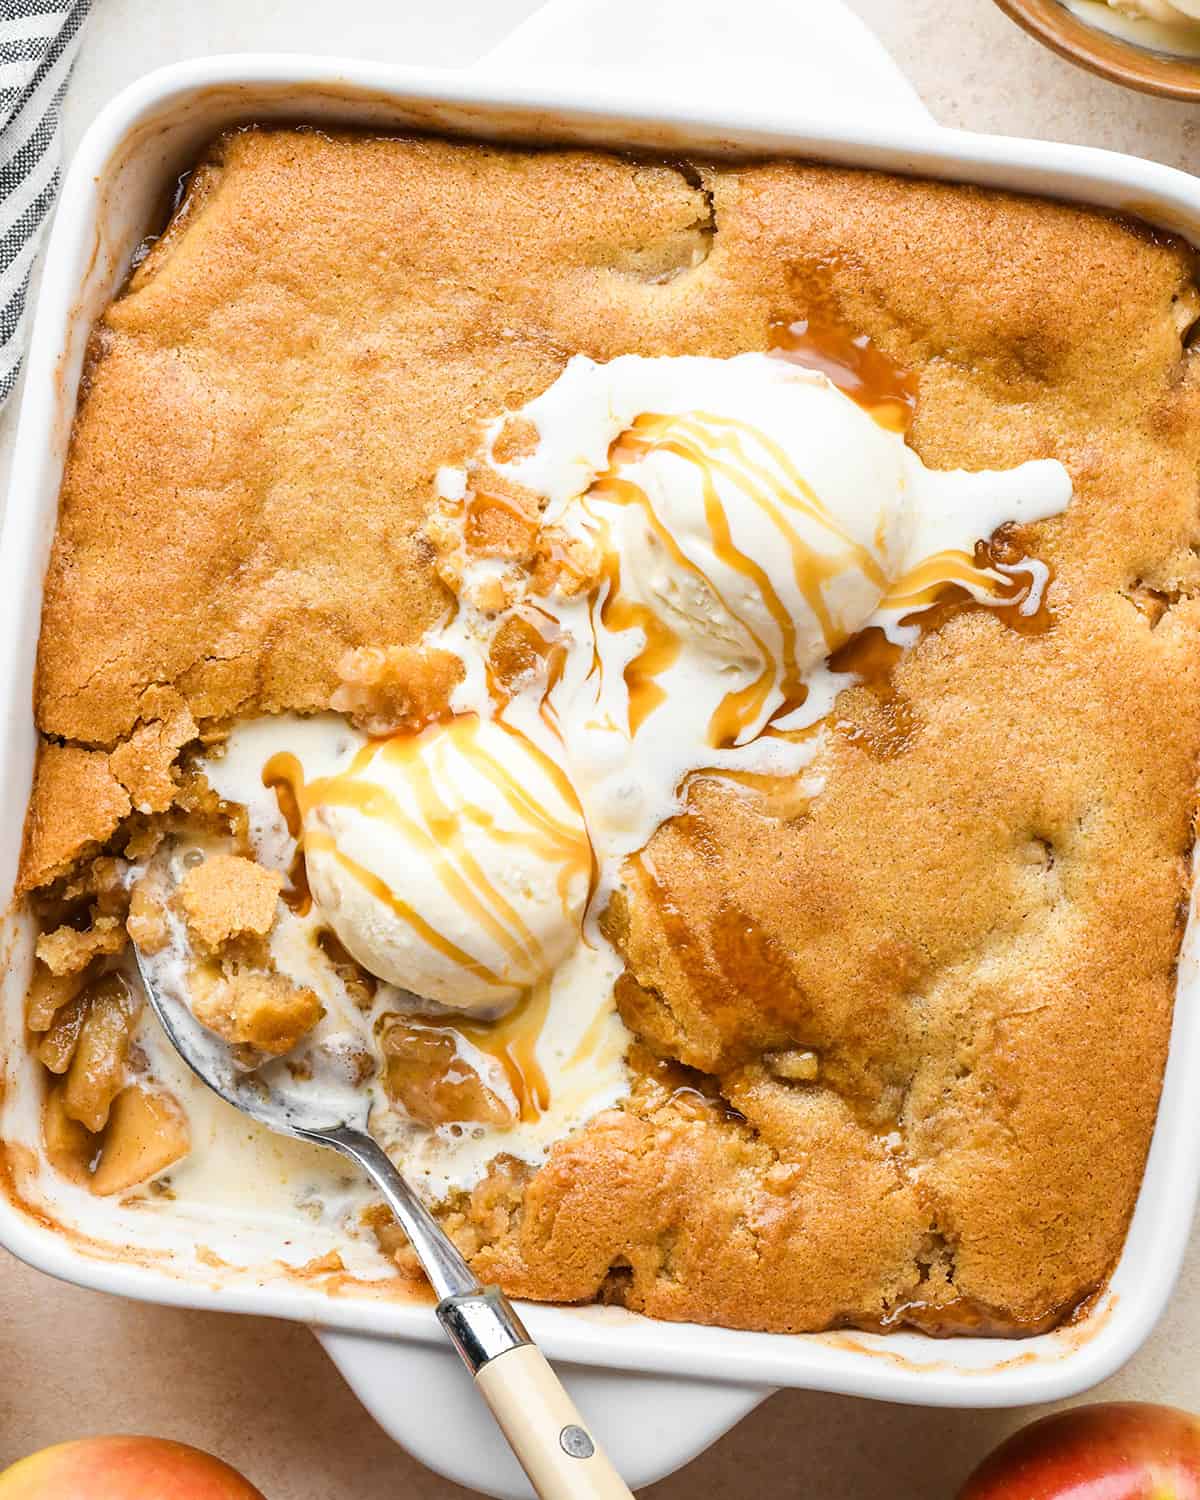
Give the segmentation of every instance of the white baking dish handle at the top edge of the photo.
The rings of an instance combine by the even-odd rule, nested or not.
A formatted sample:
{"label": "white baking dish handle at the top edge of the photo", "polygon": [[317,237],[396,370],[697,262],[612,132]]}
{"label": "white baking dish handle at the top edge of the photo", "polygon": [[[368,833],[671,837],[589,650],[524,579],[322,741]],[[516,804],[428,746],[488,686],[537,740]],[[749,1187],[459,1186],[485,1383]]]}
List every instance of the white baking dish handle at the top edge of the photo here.
{"label": "white baking dish handle at the top edge of the photo", "polygon": [[[654,98],[777,102],[780,126],[813,118],[927,124],[928,111],[843,0],[548,0],[472,70],[554,68],[654,75]],[[645,84],[638,87],[645,98]]]}

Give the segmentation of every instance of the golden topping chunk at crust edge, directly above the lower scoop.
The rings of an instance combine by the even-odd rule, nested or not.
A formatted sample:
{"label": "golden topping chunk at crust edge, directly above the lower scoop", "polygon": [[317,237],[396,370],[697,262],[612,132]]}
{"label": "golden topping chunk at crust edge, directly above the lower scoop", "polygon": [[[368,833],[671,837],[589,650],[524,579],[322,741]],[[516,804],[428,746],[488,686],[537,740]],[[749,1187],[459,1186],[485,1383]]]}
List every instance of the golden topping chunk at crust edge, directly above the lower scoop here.
{"label": "golden topping chunk at crust edge, directly above the lower scoop", "polygon": [[412,734],[450,714],[464,666],[453,651],[358,646],[338,663],[342,686],[330,706],[369,735]]}

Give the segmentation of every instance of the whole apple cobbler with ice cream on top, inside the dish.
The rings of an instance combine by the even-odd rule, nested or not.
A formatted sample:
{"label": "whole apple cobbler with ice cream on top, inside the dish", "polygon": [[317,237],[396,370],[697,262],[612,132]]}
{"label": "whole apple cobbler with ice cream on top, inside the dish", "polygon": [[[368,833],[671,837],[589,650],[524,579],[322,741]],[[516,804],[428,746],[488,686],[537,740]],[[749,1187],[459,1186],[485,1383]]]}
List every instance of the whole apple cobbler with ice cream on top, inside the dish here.
{"label": "whole apple cobbler with ice cream on top, inside the dish", "polygon": [[1188,910],[1194,274],[798,162],[216,141],[46,574],[51,1172],[150,1212],[219,1160],[134,942],[238,1065],[368,1090],[513,1294],[1070,1317]]}

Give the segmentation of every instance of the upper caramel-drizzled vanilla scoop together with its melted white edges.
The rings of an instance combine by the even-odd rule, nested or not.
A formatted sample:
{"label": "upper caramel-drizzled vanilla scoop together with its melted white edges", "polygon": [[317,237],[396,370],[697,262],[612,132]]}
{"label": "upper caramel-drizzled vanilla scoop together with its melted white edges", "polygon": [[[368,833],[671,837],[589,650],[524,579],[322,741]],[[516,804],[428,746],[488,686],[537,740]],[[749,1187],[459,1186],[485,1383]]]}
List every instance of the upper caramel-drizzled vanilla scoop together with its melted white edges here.
{"label": "upper caramel-drizzled vanilla scoop together with its melted white edges", "polygon": [[748,744],[802,702],[915,561],[1070,496],[1059,465],[932,474],[824,374],[764,354],[578,357],[522,416],[537,447],[496,466],[609,560],[609,681],[636,693],[654,674],[662,702],[692,669],[674,696],[698,722],[706,704],[710,744]]}

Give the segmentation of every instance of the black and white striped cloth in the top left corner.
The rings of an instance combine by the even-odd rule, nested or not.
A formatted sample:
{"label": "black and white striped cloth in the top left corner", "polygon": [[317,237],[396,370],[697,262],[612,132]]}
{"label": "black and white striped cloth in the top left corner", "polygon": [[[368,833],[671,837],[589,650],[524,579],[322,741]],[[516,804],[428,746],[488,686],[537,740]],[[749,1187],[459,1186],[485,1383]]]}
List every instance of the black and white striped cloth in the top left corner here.
{"label": "black and white striped cloth in the top left corner", "polygon": [[58,112],[92,0],[0,0],[0,404],[24,356],[26,292],[58,190]]}

